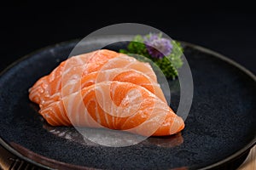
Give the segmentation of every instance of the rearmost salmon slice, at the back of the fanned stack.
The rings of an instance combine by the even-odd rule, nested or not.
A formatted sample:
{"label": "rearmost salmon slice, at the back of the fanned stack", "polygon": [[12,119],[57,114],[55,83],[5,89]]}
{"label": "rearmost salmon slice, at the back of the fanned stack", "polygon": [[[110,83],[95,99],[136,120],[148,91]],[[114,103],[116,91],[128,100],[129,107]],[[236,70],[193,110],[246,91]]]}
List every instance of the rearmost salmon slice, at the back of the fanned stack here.
{"label": "rearmost salmon slice, at the back of the fanned stack", "polygon": [[79,81],[81,77],[91,72],[113,68],[130,68],[142,71],[153,82],[157,82],[156,75],[148,63],[137,61],[137,59],[125,54],[102,49],[89,54],[74,56],[61,62],[49,76],[42,77],[29,89],[29,98],[38,105],[44,105],[45,102],[49,103],[50,100],[58,98],[58,93],[66,84]]}

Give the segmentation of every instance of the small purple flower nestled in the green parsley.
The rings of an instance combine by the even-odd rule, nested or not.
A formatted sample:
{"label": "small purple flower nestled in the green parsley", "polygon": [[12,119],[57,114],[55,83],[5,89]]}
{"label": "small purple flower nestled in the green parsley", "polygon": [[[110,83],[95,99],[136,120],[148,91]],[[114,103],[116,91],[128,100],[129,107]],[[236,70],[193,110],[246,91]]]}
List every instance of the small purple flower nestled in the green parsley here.
{"label": "small purple flower nestled in the green parsley", "polygon": [[159,34],[149,34],[144,37],[144,43],[148,50],[148,54],[154,58],[162,59],[172,52],[171,41],[161,37]]}

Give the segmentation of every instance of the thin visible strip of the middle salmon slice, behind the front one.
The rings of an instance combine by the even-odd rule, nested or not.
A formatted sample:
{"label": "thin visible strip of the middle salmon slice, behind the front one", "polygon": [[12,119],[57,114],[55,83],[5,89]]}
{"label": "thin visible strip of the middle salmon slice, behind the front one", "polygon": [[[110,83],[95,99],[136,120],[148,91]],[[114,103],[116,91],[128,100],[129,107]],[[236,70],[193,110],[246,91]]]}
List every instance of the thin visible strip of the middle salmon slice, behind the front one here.
{"label": "thin visible strip of the middle salmon slice, behind the front one", "polygon": [[73,94],[79,91],[81,88],[86,88],[97,82],[104,81],[119,81],[119,82],[131,82],[147,88],[151,93],[155,94],[162,101],[166,102],[165,95],[163,94],[160,84],[156,82],[151,82],[150,77],[145,75],[143,72],[132,70],[132,69],[111,69],[106,71],[91,72],[86,76],[82,77],[80,81],[70,81],[65,87],[62,87],[61,92],[56,93],[49,97],[49,99],[44,99],[45,102],[40,104],[40,108],[45,108],[56,100],[60,100],[61,97]]}

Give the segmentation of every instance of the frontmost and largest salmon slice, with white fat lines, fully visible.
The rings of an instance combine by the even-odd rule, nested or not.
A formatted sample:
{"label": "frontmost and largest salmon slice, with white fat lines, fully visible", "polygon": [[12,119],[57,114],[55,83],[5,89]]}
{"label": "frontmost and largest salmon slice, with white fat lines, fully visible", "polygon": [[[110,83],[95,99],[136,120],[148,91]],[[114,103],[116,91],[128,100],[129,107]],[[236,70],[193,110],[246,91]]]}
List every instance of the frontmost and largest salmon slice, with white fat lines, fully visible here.
{"label": "frontmost and largest salmon slice, with white fat lines, fully visible", "polygon": [[180,132],[183,119],[148,89],[105,81],[82,88],[40,111],[52,126],[108,127],[145,136]]}

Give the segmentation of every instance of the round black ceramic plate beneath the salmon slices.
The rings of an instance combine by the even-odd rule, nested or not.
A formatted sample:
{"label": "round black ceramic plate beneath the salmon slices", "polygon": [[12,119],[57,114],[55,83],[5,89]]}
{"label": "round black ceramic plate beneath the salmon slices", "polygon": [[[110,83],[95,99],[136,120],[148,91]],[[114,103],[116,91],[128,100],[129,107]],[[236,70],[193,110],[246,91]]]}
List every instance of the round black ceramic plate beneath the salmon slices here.
{"label": "round black ceramic plate beneath the salmon slices", "polygon": [[[101,39],[91,40],[88,47],[99,43]],[[194,100],[182,133],[112,148],[83,143],[72,128],[50,127],[38,115],[38,106],[29,101],[28,88],[67,59],[75,44],[41,49],[3,71],[0,142],[15,155],[47,168],[204,169],[219,167],[255,144],[255,77],[230,59],[185,42]],[[179,86],[177,81],[171,84],[176,110]]]}

